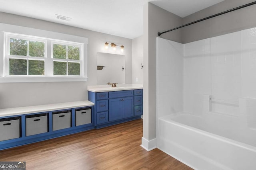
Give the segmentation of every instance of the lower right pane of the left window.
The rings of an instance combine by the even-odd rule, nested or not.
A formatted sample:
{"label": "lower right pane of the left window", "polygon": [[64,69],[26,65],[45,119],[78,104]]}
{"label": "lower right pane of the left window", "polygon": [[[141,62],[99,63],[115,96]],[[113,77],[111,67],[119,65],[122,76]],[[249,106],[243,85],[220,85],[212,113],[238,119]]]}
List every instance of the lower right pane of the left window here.
{"label": "lower right pane of the left window", "polygon": [[44,75],[44,61],[29,60],[28,75]]}

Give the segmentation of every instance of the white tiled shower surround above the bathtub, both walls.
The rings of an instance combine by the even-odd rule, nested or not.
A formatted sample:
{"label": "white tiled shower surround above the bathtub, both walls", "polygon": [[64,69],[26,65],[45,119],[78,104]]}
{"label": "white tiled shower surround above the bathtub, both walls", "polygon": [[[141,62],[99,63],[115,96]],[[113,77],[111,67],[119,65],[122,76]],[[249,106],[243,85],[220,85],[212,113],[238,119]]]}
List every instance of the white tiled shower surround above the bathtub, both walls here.
{"label": "white tiled shower surround above the bathtub, both walls", "polygon": [[157,39],[158,116],[201,115],[198,94],[210,95],[212,111],[235,116],[239,98],[256,98],[256,28],[186,44]]}

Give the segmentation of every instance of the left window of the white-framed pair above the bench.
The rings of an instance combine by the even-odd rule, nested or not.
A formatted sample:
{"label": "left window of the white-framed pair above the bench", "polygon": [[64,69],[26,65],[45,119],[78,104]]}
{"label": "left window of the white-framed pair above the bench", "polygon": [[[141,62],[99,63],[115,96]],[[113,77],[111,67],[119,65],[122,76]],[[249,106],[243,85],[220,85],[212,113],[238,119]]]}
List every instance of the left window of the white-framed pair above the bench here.
{"label": "left window of the white-framed pair above the bench", "polygon": [[8,36],[6,76],[44,75],[44,39]]}

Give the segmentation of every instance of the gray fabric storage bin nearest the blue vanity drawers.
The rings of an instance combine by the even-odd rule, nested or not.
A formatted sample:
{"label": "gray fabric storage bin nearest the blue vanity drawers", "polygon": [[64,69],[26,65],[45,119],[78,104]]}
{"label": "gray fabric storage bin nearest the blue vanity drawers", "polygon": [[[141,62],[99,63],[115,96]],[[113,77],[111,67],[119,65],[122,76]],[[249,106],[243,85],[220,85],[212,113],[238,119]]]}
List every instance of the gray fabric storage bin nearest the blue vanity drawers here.
{"label": "gray fabric storage bin nearest the blue vanity drawers", "polygon": [[92,109],[77,109],[76,110],[76,126],[92,123]]}

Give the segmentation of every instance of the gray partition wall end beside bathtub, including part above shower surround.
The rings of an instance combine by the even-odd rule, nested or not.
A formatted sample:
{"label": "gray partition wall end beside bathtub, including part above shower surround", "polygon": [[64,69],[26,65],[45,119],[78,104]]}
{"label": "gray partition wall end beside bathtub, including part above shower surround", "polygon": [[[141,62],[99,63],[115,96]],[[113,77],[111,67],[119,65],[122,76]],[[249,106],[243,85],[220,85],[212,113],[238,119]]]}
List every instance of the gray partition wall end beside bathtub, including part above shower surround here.
{"label": "gray partition wall end beside bathtub, including part above shower surround", "polygon": [[[144,83],[143,83],[143,137],[150,141],[156,138],[156,37],[165,31],[182,24],[182,18],[154,4],[144,6]],[[182,41],[181,30],[162,35],[165,39]]]}

